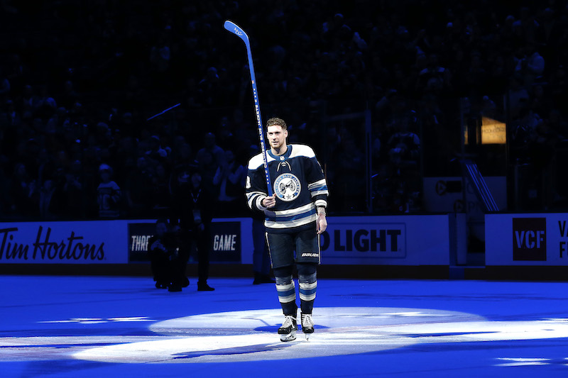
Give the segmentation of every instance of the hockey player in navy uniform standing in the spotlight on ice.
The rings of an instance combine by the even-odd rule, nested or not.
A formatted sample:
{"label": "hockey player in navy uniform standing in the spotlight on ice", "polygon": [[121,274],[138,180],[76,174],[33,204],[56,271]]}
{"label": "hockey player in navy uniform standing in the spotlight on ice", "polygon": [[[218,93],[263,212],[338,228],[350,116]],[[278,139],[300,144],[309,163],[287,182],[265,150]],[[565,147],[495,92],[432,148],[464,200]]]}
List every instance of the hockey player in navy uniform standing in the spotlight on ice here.
{"label": "hockey player in navy uniform standing in the spotlight on ice", "polygon": [[268,171],[273,195],[268,196],[263,155],[249,160],[246,198],[253,211],[265,213],[266,242],[285,320],[280,340],[295,340],[297,330],[295,265],[300,294],[300,322],[306,339],[314,332],[312,308],[320,264],[320,234],[327,228],[327,182],[315,153],[307,145],[286,144],[288,130],[281,118],[266,123],[270,145]]}

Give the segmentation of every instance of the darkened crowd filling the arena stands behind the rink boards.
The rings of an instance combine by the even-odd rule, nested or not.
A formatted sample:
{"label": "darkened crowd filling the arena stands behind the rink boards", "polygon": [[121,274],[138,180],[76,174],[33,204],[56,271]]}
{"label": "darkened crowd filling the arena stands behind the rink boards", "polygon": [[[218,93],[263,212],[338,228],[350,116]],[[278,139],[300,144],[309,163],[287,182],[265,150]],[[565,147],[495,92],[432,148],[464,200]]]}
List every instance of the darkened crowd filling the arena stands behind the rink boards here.
{"label": "darkened crowd filling the arena stands behind the rink boards", "polygon": [[346,113],[371,112],[377,213],[420,211],[421,175],[455,173],[464,99],[509,121],[513,161],[556,177],[567,1],[4,0],[0,217],[156,218],[187,162],[244,213],[258,135],[226,19],[251,37],[263,118],[315,148],[334,211],[365,209],[363,122],[326,121]]}

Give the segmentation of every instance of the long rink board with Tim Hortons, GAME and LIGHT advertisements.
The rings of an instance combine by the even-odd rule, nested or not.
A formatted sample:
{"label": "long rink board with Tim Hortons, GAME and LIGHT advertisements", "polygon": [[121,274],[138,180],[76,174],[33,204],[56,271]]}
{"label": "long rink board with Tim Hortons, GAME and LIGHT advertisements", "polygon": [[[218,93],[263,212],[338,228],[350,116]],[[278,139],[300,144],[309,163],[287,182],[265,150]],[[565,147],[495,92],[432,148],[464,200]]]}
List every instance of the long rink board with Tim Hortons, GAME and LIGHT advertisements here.
{"label": "long rink board with Tim Hortons, GAME and LIGHT advertisements", "polygon": [[[452,217],[328,217],[322,263],[449,265]],[[154,220],[0,223],[0,264],[136,264],[148,262]],[[213,263],[252,264],[251,218],[216,218]]]}

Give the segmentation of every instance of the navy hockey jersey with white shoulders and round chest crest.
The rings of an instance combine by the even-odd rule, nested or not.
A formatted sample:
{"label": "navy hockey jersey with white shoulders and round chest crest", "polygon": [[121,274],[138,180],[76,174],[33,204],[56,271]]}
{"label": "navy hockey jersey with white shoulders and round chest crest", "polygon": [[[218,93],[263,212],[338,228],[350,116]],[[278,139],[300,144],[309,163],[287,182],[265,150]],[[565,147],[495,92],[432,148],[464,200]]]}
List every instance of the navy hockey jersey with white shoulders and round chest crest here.
{"label": "navy hockey jersey with white shoulders and round chest crest", "polygon": [[315,227],[316,206],[327,207],[327,182],[315,152],[307,145],[288,145],[283,155],[267,151],[268,172],[276,205],[262,206],[268,196],[262,153],[249,160],[246,200],[253,211],[264,211],[269,233],[288,233]]}

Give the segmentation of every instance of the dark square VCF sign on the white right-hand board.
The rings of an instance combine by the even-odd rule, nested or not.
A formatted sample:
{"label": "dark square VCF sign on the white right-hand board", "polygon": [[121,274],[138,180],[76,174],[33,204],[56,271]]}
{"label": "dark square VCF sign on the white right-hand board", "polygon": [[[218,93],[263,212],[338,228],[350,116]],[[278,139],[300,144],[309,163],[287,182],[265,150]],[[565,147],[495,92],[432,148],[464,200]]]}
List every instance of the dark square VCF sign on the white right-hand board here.
{"label": "dark square VCF sign on the white right-hand board", "polygon": [[546,261],[546,218],[513,218],[513,261]]}

